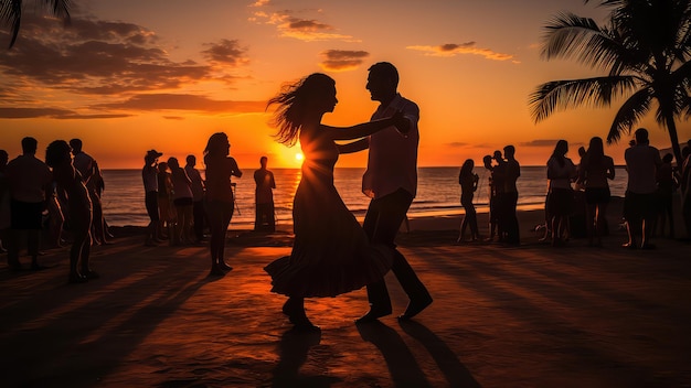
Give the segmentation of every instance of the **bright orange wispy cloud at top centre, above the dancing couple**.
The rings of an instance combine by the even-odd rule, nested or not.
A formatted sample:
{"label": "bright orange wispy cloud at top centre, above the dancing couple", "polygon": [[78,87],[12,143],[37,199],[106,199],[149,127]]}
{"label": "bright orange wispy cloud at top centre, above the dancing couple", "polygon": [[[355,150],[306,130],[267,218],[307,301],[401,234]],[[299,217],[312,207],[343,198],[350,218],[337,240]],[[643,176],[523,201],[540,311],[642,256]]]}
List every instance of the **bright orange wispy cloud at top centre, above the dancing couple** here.
{"label": "bright orange wispy cloud at top centre, above the dancing couple", "polygon": [[322,23],[316,19],[305,19],[294,15],[294,11],[285,10],[273,13],[257,11],[251,21],[276,25],[278,33],[283,37],[293,37],[300,41],[344,41],[360,42],[351,35],[336,32],[336,28]]}

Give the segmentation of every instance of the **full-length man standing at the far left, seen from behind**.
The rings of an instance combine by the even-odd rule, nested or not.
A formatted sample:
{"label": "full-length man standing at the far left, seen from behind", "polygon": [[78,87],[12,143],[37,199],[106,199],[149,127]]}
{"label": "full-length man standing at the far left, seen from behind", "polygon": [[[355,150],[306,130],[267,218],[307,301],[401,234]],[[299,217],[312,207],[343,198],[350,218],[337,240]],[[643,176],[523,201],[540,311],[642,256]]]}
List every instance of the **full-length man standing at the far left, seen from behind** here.
{"label": "full-length man standing at the far left, seen from behind", "polygon": [[36,139],[22,139],[22,154],[12,159],[7,168],[10,187],[10,235],[8,236],[8,265],[20,270],[20,242],[26,238],[31,256],[31,269],[39,270],[39,247],[41,246],[42,213],[51,187],[52,173],[49,166],[36,157]]}

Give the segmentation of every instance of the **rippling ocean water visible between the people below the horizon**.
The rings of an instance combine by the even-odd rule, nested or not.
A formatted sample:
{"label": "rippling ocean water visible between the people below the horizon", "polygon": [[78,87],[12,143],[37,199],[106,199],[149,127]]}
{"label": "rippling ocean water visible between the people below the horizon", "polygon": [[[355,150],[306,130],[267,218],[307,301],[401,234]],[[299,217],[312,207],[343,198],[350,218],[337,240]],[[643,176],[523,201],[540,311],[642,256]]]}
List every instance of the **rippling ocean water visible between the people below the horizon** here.
{"label": "rippling ocean water visible between the people below the horizon", "polygon": [[[299,169],[272,169],[276,179],[274,204],[278,224],[291,222],[293,195],[300,182]],[[417,196],[408,211],[408,217],[463,214],[460,207],[459,168],[419,168]],[[254,170],[244,170],[235,182],[236,207],[231,228],[252,227],[254,225]],[[364,217],[370,198],[360,191],[364,169],[337,168],[333,174],[334,185],[343,202],[355,215]],[[489,172],[477,169],[480,176],[475,204],[478,212],[487,212]],[[108,225],[146,226],[149,223],[143,205],[143,184],[140,170],[104,170],[105,190],[103,192],[104,215]],[[626,170],[616,169],[616,177],[609,182],[612,195],[624,196],[626,191]],[[542,208],[546,193],[546,168],[523,166],[518,180],[519,208]]]}

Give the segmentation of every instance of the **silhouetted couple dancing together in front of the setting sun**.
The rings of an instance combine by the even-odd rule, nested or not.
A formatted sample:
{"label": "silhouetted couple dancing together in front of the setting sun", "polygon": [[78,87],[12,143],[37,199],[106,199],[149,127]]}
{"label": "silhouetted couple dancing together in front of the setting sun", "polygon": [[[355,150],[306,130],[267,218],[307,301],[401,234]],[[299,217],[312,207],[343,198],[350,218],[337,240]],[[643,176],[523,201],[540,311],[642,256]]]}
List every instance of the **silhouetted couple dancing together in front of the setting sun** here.
{"label": "silhouetted couple dancing together in front of the setting sun", "polygon": [[[418,108],[397,91],[398,73],[390,63],[370,67],[366,88],[381,105],[370,122],[330,127],[322,116],[338,104],[336,82],[311,74],[272,98],[277,140],[300,142],[305,161],[294,198],[295,242],[290,256],[269,263],[272,291],[288,297],[283,312],[297,330],[318,330],[305,312],[305,298],[336,297],[368,288],[370,311],[358,323],[392,312],[384,274],[391,269],[410,298],[400,319],[432,303],[425,285],[395,249],[394,238],[417,186]],[[337,143],[337,141],[350,141]],[[363,192],[372,200],[363,226],[333,185],[341,153],[369,149]]]}

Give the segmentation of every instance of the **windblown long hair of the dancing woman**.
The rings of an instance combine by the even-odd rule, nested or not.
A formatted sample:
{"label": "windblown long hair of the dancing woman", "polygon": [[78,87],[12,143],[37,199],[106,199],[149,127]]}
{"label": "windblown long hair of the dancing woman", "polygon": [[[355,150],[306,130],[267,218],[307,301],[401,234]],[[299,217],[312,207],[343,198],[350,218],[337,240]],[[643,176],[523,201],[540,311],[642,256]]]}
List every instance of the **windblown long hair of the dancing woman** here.
{"label": "windblown long hair of the dancing woman", "polygon": [[288,147],[295,146],[305,115],[334,85],[336,82],[328,75],[313,73],[295,84],[284,86],[278,95],[269,99],[267,108],[272,105],[278,106],[274,112],[274,126],[278,128],[274,137],[277,141]]}

